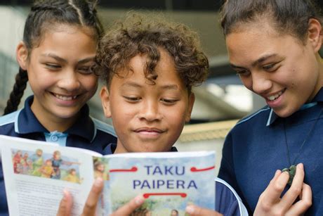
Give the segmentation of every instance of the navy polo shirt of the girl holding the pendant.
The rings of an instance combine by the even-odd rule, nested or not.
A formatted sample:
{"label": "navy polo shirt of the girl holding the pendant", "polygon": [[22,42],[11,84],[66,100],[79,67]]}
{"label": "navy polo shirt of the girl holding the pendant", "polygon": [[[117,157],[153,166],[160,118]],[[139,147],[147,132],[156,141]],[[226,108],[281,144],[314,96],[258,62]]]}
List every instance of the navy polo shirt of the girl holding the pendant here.
{"label": "navy polo shirt of the girl holding the pendant", "polygon": [[304,164],[304,182],[312,189],[312,207],[305,215],[323,214],[322,109],[320,89],[310,103],[289,117],[279,117],[265,106],[240,120],[226,136],[218,177],[237,191],[250,214],[275,171],[290,166],[288,154],[291,163]]}

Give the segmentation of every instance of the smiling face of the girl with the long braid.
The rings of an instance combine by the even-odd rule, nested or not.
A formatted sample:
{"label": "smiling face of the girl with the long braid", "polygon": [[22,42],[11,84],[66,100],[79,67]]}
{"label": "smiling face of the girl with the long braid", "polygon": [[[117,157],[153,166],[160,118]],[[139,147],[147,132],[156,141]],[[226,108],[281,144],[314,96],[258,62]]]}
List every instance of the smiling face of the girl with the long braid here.
{"label": "smiling face of the girl with the long braid", "polygon": [[25,46],[18,45],[18,61],[28,71],[34,92],[32,110],[45,127],[54,122],[70,125],[95,94],[98,79],[88,70],[95,52],[91,34],[70,25],[44,32],[28,59]]}

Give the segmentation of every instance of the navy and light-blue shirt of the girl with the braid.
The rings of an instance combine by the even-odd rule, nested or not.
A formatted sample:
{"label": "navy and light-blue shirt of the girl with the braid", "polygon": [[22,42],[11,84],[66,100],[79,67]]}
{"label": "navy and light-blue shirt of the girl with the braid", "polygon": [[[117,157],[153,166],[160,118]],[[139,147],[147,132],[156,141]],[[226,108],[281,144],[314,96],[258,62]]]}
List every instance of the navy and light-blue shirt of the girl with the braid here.
{"label": "navy and light-blue shirt of the girl with the braid", "polygon": [[[81,108],[81,115],[66,132],[48,132],[37,120],[30,106],[34,96],[29,96],[25,107],[0,117],[0,134],[40,141],[50,141],[60,146],[86,148],[98,153],[117,138],[112,126],[89,116],[88,106]],[[0,163],[0,215],[8,215],[8,206],[4,188],[4,174]]]}

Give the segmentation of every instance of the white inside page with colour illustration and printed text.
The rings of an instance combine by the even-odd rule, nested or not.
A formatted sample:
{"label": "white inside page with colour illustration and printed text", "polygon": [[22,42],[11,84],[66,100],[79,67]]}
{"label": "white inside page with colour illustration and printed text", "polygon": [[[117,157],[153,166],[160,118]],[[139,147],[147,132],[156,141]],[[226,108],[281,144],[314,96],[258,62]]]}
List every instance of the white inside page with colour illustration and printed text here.
{"label": "white inside page with colour illustration and printed text", "polygon": [[9,136],[0,145],[10,215],[56,215],[64,189],[81,215],[94,179],[90,151]]}

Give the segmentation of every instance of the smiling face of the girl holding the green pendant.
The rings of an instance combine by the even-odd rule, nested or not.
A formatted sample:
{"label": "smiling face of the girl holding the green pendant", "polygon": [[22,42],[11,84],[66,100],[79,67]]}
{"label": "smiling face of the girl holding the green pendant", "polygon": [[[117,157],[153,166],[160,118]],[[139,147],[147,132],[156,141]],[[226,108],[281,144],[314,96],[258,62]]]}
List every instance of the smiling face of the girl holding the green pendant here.
{"label": "smiling face of the girl holding the green pendant", "polygon": [[310,27],[305,45],[266,23],[244,26],[226,37],[232,68],[246,88],[262,96],[281,117],[296,112],[323,84],[323,68],[317,61],[322,37],[321,42],[315,40],[319,27]]}

